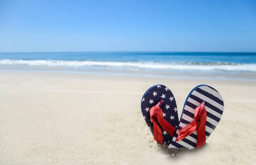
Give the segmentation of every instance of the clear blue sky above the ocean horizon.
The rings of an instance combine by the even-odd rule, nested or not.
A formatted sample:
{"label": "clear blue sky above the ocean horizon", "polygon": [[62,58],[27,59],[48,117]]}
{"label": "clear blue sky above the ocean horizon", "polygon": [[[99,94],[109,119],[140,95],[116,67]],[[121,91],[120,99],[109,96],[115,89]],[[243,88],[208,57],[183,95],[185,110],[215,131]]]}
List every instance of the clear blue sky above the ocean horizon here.
{"label": "clear blue sky above the ocean horizon", "polygon": [[0,52],[256,51],[255,0],[0,0]]}

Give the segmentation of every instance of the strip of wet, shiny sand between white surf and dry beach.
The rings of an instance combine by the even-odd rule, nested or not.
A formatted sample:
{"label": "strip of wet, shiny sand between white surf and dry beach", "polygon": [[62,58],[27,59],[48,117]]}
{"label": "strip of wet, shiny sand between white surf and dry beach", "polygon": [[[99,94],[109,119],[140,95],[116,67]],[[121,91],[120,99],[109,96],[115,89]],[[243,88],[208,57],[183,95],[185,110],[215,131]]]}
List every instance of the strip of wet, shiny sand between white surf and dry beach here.
{"label": "strip of wet, shiny sand between white surf and dry beach", "polygon": [[172,78],[190,80],[227,80],[227,81],[249,81],[256,82],[256,73],[214,73],[195,71],[129,71],[114,69],[87,69],[76,70],[67,68],[4,68],[0,67],[0,72],[35,72],[35,73],[59,73],[59,74],[80,74],[80,75],[102,75],[102,76],[121,76],[121,77],[151,77],[151,78]]}

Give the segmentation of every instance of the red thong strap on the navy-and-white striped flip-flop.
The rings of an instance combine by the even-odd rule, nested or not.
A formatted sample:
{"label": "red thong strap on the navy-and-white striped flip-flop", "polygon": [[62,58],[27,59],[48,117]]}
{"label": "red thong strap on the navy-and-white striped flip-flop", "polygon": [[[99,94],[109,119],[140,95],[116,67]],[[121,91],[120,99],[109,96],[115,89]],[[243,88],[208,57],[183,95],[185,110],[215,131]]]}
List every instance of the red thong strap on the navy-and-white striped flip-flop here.
{"label": "red thong strap on the navy-and-white striped flip-flop", "polygon": [[[200,148],[202,145],[205,144],[205,124],[206,124],[206,117],[207,117],[207,112],[206,109],[204,108],[204,102],[202,102],[201,106],[198,106],[195,108],[195,116],[194,116],[194,121],[192,121],[189,125],[186,125],[184,128],[182,128],[178,132],[178,136],[175,140],[175,142],[182,140],[195,132],[197,129],[197,147]],[[198,125],[198,119],[200,119],[200,124]]]}

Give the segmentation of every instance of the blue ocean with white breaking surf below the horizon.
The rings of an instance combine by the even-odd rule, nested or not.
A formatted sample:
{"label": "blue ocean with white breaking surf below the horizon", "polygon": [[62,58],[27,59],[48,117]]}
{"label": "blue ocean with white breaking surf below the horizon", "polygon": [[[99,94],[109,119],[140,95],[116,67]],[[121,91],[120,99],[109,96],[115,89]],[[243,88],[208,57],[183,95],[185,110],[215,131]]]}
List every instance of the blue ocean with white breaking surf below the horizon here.
{"label": "blue ocean with white breaking surf below the horizon", "polygon": [[[84,72],[253,74],[256,53],[45,52],[0,53],[0,69]],[[127,72],[128,73],[128,72]]]}

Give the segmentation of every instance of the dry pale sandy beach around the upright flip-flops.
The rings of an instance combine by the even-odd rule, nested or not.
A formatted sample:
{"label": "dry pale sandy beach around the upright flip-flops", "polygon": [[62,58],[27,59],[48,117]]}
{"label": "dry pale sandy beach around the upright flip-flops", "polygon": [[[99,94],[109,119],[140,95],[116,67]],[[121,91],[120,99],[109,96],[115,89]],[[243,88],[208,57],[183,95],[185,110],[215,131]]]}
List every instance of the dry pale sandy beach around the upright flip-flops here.
{"label": "dry pale sandy beach around the upright flip-flops", "polygon": [[[140,110],[168,86],[179,117],[196,85],[217,89],[224,114],[196,151],[157,145]],[[0,165],[256,165],[256,82],[0,71]]]}

